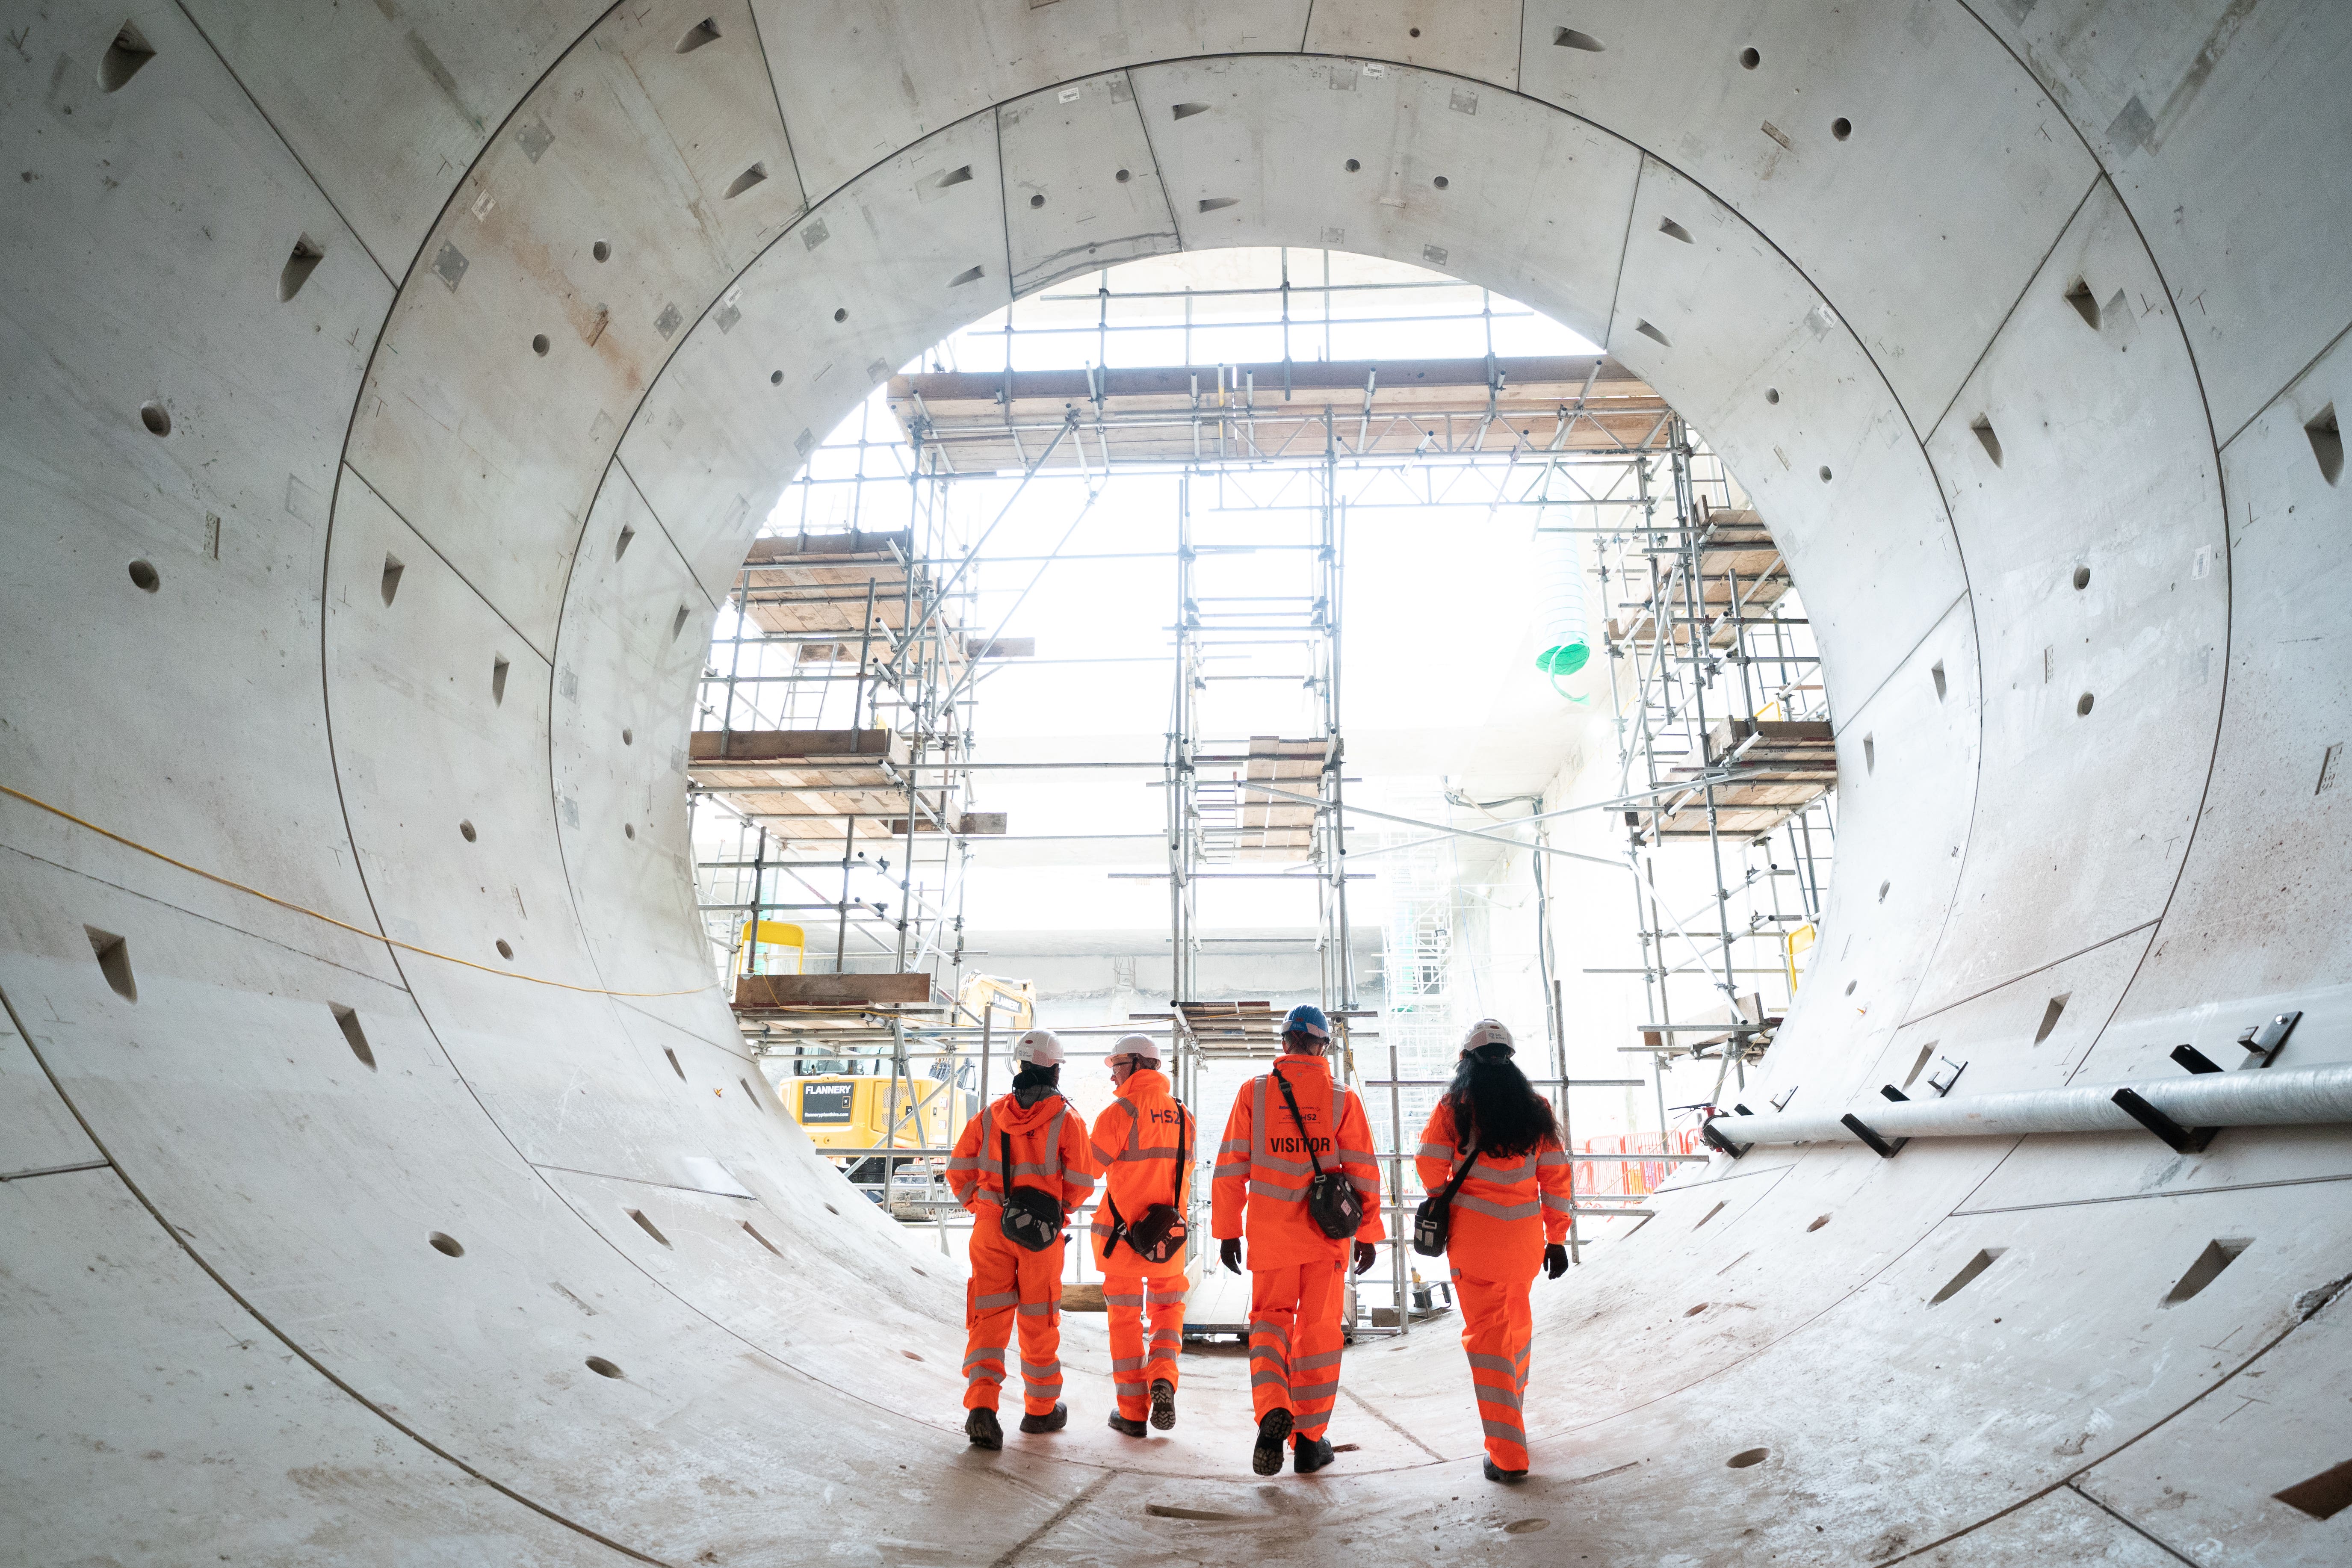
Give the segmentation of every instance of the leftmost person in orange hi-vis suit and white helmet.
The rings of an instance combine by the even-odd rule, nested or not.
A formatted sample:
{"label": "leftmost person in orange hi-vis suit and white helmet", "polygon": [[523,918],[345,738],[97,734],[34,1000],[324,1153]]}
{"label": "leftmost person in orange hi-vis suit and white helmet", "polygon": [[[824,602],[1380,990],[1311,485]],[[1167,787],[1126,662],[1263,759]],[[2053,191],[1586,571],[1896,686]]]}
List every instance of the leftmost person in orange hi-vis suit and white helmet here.
{"label": "leftmost person in orange hi-vis suit and white helmet", "polygon": [[[1021,1324],[1021,1429],[1061,1432],[1061,1248],[1070,1211],[1094,1192],[1087,1119],[1061,1098],[1061,1041],[1030,1030],[1014,1046],[1014,1088],[964,1124],[948,1190],[971,1211],[964,1286],[964,1436],[1002,1448],[997,1389]],[[1007,1168],[1011,1199],[1007,1201]]]}

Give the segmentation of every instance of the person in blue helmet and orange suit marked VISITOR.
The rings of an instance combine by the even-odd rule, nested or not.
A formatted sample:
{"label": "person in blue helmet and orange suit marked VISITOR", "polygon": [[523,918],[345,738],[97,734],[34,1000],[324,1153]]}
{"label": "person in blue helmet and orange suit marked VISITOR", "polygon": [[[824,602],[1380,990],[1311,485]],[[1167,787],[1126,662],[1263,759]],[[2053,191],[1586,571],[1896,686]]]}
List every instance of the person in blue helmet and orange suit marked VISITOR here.
{"label": "person in blue helmet and orange suit marked VISITOR", "polygon": [[1329,1048],[1322,1009],[1294,1006],[1275,1070],[1232,1100],[1209,1187],[1209,1229],[1235,1274],[1249,1239],[1249,1396],[1258,1415],[1249,1467],[1261,1476],[1282,1469],[1282,1443],[1294,1434],[1301,1476],[1331,1462],[1324,1429],[1338,1399],[1343,1269],[1350,1246],[1355,1272],[1369,1269],[1388,1234],[1371,1124],[1355,1091],[1334,1081]]}

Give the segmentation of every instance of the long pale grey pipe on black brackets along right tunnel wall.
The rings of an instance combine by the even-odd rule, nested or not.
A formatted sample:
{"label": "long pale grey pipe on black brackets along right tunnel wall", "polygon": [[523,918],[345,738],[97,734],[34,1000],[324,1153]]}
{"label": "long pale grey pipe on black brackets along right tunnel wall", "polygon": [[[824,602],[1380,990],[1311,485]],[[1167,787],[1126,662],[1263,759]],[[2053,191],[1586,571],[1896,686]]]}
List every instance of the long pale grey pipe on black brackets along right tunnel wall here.
{"label": "long pale grey pipe on black brackets along right tunnel wall", "polygon": [[2072,1084],[1947,1100],[1856,1100],[1835,1112],[1715,1117],[1717,1135],[1757,1143],[1860,1143],[1839,1121],[1853,1114],[1879,1138],[2011,1138],[2016,1133],[2138,1133],[2114,1103],[2129,1088],[2180,1126],[2298,1126],[2352,1121],[2352,1063],[2328,1067],[2246,1067],[2131,1084]]}

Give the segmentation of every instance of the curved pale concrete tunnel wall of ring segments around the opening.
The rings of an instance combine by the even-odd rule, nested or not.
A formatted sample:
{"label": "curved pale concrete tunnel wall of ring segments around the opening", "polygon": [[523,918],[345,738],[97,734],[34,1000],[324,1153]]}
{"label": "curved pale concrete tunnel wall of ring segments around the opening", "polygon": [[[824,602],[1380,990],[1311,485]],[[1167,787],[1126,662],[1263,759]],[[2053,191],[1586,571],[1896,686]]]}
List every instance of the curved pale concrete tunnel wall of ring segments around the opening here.
{"label": "curved pale concrete tunnel wall of ring segments around the opening", "polygon": [[[694,990],[680,750],[748,536],[891,367],[1105,259],[1385,254],[1604,341],[1804,583],[1842,872],[1759,1095],[1842,1105],[1929,1046],[1964,1091],[2166,1074],[2286,1006],[2281,1060],[2352,1056],[2321,771],[2352,508],[2305,433],[2352,397],[2352,16],[129,21],[111,56],[118,12],[56,5],[5,61],[0,783],[343,926],[0,797],[0,1168],[49,1171],[0,1185],[28,1561],[1058,1561],[1261,1528],[1296,1561],[1882,1561],[1971,1528],[1966,1561],[2138,1561],[2138,1530],[2340,1559],[2343,1521],[2270,1500],[2352,1460],[2343,1309],[2314,1316],[2352,1272],[2340,1131],[1717,1161],[1538,1293],[1543,1476],[1508,1495],[1463,1490],[1442,1335],[1350,1361],[1367,1450],[1298,1512],[1232,1481],[1200,1403],[1169,1446],[976,1465],[953,1286],[828,1213]],[[296,235],[325,259],[280,299]],[[2159,1307],[2220,1237],[2256,1244]],[[2216,1429],[2253,1387],[2267,1425]],[[1726,1469],[1745,1448],[1771,1458]]]}

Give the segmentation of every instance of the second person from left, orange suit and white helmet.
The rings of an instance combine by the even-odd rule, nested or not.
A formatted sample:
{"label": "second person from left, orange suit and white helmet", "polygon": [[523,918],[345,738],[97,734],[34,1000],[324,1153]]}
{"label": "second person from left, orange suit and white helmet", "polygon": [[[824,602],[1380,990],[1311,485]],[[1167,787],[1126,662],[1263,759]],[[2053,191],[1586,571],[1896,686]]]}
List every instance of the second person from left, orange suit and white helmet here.
{"label": "second person from left, orange suit and white helmet", "polygon": [[[1129,1034],[1110,1051],[1117,1098],[1094,1119],[1094,1166],[1103,1201],[1094,1206],[1094,1262],[1103,1269],[1110,1309],[1110,1382],[1120,1408],[1110,1429],[1143,1436],[1143,1415],[1176,1425],[1176,1354],[1183,1349],[1183,1225],[1190,1215],[1192,1159],[1200,1138],[1192,1112],[1169,1093],[1160,1046]],[[1162,1208],[1164,1206],[1164,1208]],[[1160,1262],[1145,1253],[1167,1253]],[[1143,1324],[1150,1319],[1150,1347]]]}

